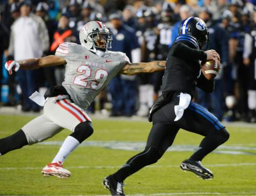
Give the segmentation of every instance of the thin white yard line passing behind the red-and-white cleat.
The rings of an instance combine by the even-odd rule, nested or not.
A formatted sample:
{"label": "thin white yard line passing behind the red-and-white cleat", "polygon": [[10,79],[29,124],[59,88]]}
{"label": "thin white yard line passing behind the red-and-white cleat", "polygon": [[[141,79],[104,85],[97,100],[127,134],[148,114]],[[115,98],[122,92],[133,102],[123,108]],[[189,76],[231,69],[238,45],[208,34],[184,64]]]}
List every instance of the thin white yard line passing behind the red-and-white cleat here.
{"label": "thin white yard line passing behind the red-and-white cleat", "polygon": [[[229,166],[254,166],[256,163],[227,163],[227,164],[205,164],[209,167],[229,167]],[[43,167],[43,166],[42,166]],[[16,170],[16,169],[28,169],[28,170],[37,170],[42,169],[42,167],[0,167],[0,170]],[[120,168],[121,165],[99,165],[99,166],[70,166],[65,167],[67,169],[104,169],[104,168]],[[149,165],[148,168],[158,168],[158,167],[179,167],[179,165]]]}

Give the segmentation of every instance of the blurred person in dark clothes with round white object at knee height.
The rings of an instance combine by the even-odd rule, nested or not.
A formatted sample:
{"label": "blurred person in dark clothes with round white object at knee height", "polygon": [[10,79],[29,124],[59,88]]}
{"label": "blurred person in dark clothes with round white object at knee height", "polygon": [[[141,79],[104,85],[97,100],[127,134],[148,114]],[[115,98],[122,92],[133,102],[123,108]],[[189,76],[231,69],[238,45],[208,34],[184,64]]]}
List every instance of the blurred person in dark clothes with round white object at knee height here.
{"label": "blurred person in dark clothes with round white object at knee height", "polygon": [[[243,45],[245,32],[248,31],[246,16],[242,16],[242,5],[239,1],[231,1],[223,13],[222,24],[229,34],[229,64],[224,68],[226,80],[225,120],[247,121],[247,70],[243,65]],[[243,22],[244,21],[244,22]],[[224,22],[224,23],[223,23]]]}

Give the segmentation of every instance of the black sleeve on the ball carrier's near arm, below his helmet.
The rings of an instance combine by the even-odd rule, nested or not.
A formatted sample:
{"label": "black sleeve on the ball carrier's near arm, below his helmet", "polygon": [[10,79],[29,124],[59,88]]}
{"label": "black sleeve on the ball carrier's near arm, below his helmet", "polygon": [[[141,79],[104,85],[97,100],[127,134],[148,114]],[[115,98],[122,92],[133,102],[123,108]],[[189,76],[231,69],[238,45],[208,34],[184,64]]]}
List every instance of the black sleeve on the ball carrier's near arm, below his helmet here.
{"label": "black sleeve on the ball carrier's near arm, below his helmet", "polygon": [[173,44],[172,48],[170,48],[170,55],[183,59],[185,61],[206,61],[207,59],[207,55],[204,51],[193,49],[182,42]]}

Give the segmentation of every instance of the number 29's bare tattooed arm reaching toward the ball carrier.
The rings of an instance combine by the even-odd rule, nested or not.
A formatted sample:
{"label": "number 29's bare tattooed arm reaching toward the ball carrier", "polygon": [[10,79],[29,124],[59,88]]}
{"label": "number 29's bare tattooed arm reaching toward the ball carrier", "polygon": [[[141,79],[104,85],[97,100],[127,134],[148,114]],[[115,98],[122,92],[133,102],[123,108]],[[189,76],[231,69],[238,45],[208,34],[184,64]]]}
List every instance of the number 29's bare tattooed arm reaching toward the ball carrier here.
{"label": "number 29's bare tattooed arm reaching toward the ball carrier", "polygon": [[129,63],[119,72],[124,75],[135,75],[139,73],[152,73],[163,71],[166,61],[152,61],[148,63]]}

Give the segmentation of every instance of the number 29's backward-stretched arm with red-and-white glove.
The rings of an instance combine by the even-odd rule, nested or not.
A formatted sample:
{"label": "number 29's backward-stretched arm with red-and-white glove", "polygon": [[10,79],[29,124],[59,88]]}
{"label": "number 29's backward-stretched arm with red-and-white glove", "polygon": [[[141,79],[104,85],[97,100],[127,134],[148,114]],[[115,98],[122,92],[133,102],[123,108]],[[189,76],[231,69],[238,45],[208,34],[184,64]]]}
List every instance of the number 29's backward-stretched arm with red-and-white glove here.
{"label": "number 29's backward-stretched arm with red-and-white glove", "polygon": [[40,67],[49,67],[55,65],[63,65],[66,64],[66,60],[62,57],[58,57],[56,55],[50,55],[41,58],[34,59],[26,59],[23,61],[7,61],[5,63],[5,68],[9,71],[9,74],[12,74],[12,70],[17,71],[19,68],[21,69],[37,69]]}

